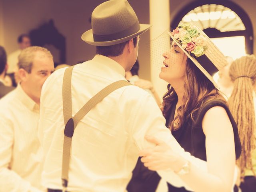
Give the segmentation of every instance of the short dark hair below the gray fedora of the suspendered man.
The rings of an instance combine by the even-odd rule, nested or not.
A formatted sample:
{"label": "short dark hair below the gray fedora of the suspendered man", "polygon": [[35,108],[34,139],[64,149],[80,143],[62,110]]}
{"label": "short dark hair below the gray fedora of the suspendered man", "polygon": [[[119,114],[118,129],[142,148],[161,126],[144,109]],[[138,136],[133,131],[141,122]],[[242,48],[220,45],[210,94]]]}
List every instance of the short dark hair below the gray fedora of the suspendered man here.
{"label": "short dark hair below the gray fedora of the suspendered man", "polygon": [[[129,42],[123,42],[116,45],[110,46],[96,46],[96,54],[104,55],[104,56],[119,56],[123,53],[125,45]],[[137,46],[137,37],[133,38],[134,47]]]}

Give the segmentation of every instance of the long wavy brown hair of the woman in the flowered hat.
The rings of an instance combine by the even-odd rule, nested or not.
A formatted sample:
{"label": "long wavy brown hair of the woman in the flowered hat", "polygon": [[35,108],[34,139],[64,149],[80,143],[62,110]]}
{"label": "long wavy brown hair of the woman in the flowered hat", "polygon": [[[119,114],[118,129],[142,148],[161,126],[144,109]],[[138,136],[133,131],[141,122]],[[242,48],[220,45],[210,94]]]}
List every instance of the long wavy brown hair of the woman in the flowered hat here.
{"label": "long wavy brown hair of the woman in the flowered hat", "polygon": [[[166,119],[169,118],[170,109],[177,101],[177,94],[174,88],[168,84],[167,93],[163,96],[161,106],[162,113]],[[171,131],[179,129],[189,118],[193,118],[196,112],[206,100],[220,98],[226,100],[220,92],[214,87],[212,82],[196,67],[196,65],[187,59],[186,73],[184,81],[184,96],[182,105],[177,109],[177,116],[172,122],[169,122]],[[175,122],[175,123],[174,123]]]}

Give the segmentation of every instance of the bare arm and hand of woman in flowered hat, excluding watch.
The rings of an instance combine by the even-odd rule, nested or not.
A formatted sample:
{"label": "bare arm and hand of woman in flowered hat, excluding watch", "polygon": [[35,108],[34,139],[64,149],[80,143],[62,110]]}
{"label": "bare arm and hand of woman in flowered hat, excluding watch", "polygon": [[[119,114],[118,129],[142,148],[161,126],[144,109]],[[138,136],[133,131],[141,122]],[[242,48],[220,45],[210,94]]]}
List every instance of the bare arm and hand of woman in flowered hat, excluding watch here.
{"label": "bare arm and hand of woman in flowered hat, excluding watch", "polygon": [[[188,174],[180,178],[196,192],[230,192],[233,188],[235,169],[234,134],[232,125],[222,107],[208,110],[203,118],[202,127],[206,135],[206,156],[208,172],[190,164]],[[140,152],[142,162],[150,170],[171,168],[178,172],[187,160],[174,153],[170,147],[156,139],[149,139],[157,144],[153,149]]]}

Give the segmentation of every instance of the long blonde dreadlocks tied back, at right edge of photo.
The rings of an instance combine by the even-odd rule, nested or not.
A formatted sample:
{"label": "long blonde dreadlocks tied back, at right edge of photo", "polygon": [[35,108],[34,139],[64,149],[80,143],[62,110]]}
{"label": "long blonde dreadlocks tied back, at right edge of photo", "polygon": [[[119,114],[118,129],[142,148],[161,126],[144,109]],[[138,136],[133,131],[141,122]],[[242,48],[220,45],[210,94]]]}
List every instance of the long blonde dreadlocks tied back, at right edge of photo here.
{"label": "long blonde dreadlocks tied back, at right edge of photo", "polygon": [[[252,150],[255,148],[255,113],[253,103],[254,80],[256,79],[256,57],[243,56],[232,62],[229,70],[234,90],[228,100],[229,108],[238,126],[242,153],[237,160],[244,179],[245,169],[252,168]],[[254,176],[255,172],[253,171]]]}

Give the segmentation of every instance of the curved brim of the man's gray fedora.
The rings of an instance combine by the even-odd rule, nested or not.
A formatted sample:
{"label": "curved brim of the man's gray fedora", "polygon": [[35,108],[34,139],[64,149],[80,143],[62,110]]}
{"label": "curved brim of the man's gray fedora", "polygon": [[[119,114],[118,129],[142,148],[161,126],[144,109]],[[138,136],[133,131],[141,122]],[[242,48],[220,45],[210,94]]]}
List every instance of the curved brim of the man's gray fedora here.
{"label": "curved brim of the man's gray fedora", "polygon": [[130,36],[121,38],[121,39],[117,39],[117,40],[112,40],[112,41],[103,41],[103,42],[98,42],[98,41],[94,41],[93,39],[93,35],[92,35],[92,29],[84,32],[84,34],[82,34],[82,40],[90,45],[95,45],[95,46],[110,46],[110,45],[115,45],[115,44],[119,44],[122,42],[126,42],[144,32],[146,32],[150,27],[152,27],[152,25],[148,25],[148,24],[140,24],[140,30]]}

